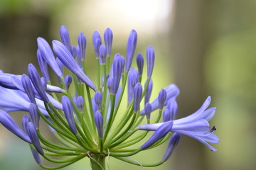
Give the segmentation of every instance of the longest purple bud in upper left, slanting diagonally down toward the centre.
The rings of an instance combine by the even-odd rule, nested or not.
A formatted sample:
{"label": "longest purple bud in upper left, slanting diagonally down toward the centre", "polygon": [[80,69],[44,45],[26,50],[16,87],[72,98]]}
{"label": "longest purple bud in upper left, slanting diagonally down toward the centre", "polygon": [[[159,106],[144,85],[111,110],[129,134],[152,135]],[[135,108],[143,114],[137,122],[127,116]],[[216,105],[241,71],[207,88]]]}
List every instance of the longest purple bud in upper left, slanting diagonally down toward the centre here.
{"label": "longest purple bud in upper left, slanting diagonally down toward the centre", "polygon": [[79,79],[81,79],[87,86],[91,89],[97,89],[95,84],[82,72],[77,62],[75,62],[74,57],[70,54],[67,48],[63,45],[63,43],[53,40],[53,50],[60,61],[70,69]]}

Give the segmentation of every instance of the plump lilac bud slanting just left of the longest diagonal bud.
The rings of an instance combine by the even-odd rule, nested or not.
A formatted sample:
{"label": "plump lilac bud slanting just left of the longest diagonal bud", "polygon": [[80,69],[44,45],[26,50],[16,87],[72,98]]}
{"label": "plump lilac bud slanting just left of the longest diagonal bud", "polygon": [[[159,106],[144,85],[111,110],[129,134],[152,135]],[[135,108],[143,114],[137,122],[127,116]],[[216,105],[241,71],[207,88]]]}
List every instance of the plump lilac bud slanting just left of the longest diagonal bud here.
{"label": "plump lilac bud slanting just left of the longest diagonal bud", "polygon": [[63,73],[61,72],[60,67],[58,67],[58,64],[53,55],[53,51],[50,49],[48,42],[43,38],[38,38],[37,42],[38,49],[40,50],[44,60],[46,60],[46,62],[50,65],[58,77],[63,77]]}

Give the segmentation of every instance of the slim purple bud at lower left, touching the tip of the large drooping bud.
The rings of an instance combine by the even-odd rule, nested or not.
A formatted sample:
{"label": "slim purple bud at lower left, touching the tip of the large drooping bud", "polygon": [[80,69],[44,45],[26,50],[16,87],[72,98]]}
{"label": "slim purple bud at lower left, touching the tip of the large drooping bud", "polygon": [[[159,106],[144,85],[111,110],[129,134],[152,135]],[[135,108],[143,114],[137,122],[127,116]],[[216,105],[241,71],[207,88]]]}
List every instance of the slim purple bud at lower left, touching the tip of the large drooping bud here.
{"label": "slim purple bud at lower left, touching the tip of the large drooping bud", "polygon": [[28,131],[28,136],[30,137],[33,146],[36,148],[36,151],[39,154],[44,155],[43,149],[42,149],[39,139],[38,139],[38,134],[36,132],[35,125],[31,122],[28,123],[27,131]]}

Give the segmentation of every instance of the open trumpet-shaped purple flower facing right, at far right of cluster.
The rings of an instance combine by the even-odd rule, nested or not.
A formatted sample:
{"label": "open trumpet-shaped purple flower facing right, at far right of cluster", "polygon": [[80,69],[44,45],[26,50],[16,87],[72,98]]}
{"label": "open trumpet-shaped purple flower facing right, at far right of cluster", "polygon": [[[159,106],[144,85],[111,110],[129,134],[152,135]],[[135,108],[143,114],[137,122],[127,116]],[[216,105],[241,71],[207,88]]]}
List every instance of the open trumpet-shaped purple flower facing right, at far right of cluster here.
{"label": "open trumpet-shaped purple flower facing right, at far right of cluster", "polygon": [[[183,135],[187,135],[189,137],[193,137],[199,142],[206,145],[209,149],[214,152],[217,151],[214,147],[208,144],[210,143],[218,143],[219,139],[213,132],[210,131],[210,125],[208,121],[213,118],[215,114],[215,108],[208,108],[210,105],[210,97],[206,99],[201,108],[198,109],[195,113],[188,115],[185,118],[181,118],[178,120],[170,120],[164,123],[152,123],[147,125],[140,125],[139,130],[158,130],[161,125],[173,122],[171,132],[178,132]],[[208,108],[206,110],[206,108]]]}

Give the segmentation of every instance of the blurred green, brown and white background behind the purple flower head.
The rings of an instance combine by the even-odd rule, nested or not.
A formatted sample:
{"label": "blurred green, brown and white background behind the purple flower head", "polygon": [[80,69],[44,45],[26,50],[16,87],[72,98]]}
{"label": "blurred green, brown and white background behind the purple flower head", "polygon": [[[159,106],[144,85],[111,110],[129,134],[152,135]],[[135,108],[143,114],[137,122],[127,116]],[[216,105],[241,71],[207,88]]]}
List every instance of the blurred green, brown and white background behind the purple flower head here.
{"label": "blurred green, brown and white background behind the purple flower head", "polygon": [[[196,111],[207,96],[217,112],[211,125],[220,143],[211,152],[182,136],[166,164],[147,169],[255,169],[256,1],[244,0],[0,0],[0,69],[26,73],[36,62],[36,38],[60,40],[67,26],[73,44],[87,37],[87,60],[93,59],[92,33],[110,27],[113,53],[125,56],[129,31],[137,30],[137,51],[153,45],[156,63],[154,94],[175,83],[178,116]],[[92,66],[93,67],[93,66]],[[93,73],[92,73],[93,74]],[[0,94],[1,95],[1,94]],[[21,121],[23,113],[11,113]],[[28,145],[0,126],[0,169],[40,169]],[[158,162],[166,145],[134,157]],[[110,159],[110,169],[142,169]],[[90,169],[87,159],[65,169]]]}

